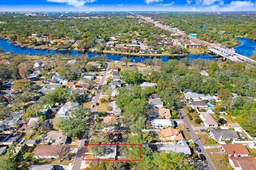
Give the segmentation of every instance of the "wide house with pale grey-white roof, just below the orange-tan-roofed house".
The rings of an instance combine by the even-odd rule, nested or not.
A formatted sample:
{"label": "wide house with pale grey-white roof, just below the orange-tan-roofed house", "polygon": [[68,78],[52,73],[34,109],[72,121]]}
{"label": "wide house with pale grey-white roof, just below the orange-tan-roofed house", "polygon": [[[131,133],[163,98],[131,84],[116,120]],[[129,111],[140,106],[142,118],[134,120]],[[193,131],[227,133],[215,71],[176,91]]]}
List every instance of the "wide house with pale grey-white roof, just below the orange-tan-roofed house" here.
{"label": "wide house with pale grey-white roof, just below the orange-tan-roofed house", "polygon": [[169,152],[173,151],[176,153],[190,155],[191,150],[186,141],[180,140],[177,143],[169,143],[166,145],[157,145],[158,152]]}

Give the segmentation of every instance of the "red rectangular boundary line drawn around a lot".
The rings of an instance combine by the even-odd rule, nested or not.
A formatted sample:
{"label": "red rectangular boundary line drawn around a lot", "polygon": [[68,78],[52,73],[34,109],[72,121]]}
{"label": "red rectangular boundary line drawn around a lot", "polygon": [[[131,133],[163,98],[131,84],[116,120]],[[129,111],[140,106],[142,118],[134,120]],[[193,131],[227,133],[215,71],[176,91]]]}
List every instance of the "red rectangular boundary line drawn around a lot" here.
{"label": "red rectangular boundary line drawn around a lot", "polygon": [[[115,160],[115,159],[85,159],[84,156],[86,154],[86,149],[88,146],[104,146],[104,145],[137,145],[140,148],[140,159],[135,159],[135,160],[131,160],[131,159],[120,159],[120,160]],[[84,156],[83,156],[83,160],[104,160],[104,161],[141,161],[141,144],[87,144],[84,150]]]}

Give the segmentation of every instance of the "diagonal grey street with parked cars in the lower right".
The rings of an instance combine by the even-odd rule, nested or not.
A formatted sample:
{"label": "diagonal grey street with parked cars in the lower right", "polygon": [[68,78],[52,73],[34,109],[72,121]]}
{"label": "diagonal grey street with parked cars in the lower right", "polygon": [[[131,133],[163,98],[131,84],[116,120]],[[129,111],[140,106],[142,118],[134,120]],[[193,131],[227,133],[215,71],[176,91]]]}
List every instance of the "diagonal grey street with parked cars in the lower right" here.
{"label": "diagonal grey street with parked cars in the lower right", "polygon": [[190,125],[188,118],[186,117],[185,113],[183,112],[182,109],[178,109],[178,111],[180,111],[181,116],[183,117],[183,123],[184,125],[188,128],[189,130],[189,134],[192,137],[192,141],[197,143],[199,145],[199,148],[202,150],[202,152],[200,154],[203,154],[206,157],[206,161],[208,162],[208,168],[209,170],[216,170],[216,168],[214,167],[210,157],[208,156],[208,154],[206,153],[204,146],[202,145],[202,143],[200,142],[200,140],[198,139],[195,131],[192,129],[192,126]]}

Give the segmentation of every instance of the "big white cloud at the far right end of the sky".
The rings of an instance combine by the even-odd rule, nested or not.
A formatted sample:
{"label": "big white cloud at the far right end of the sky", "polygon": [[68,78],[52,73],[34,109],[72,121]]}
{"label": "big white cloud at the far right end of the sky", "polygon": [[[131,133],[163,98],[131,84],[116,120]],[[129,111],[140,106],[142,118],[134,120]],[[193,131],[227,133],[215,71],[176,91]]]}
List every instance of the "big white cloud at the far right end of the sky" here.
{"label": "big white cloud at the far right end of the sky", "polygon": [[250,10],[253,9],[256,6],[255,3],[252,1],[232,1],[230,4],[226,4],[223,8],[222,11],[235,11],[235,10]]}

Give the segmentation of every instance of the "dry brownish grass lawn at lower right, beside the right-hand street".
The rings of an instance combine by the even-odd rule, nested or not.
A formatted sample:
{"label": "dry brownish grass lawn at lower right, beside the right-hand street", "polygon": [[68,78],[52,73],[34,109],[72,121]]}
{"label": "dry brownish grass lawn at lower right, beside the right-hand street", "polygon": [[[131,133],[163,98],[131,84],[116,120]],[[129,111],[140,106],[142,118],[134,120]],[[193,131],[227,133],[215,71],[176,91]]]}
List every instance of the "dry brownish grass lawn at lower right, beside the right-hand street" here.
{"label": "dry brownish grass lawn at lower right, beside the right-hand street", "polygon": [[[212,163],[214,164],[216,170],[232,170],[230,164],[228,163],[228,158],[224,154],[211,154],[211,152],[219,152],[218,148],[206,149]],[[225,164],[221,166],[218,161],[223,160]]]}

